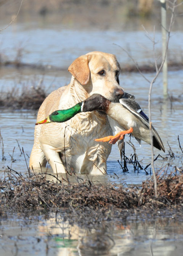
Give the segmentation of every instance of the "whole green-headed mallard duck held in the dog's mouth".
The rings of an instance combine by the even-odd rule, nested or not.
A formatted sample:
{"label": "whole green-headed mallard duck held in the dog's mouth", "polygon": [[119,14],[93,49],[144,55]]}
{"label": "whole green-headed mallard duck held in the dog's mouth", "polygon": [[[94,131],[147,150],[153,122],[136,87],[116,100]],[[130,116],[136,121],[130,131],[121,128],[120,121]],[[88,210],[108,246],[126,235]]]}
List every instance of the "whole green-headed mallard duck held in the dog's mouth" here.
{"label": "whole green-headed mallard duck held in the dog's mouth", "polygon": [[[79,102],[74,107],[66,110],[57,110],[46,119],[37,122],[38,124],[50,122],[65,122],[77,113],[98,110],[106,113],[109,116],[114,134],[116,130],[121,129],[115,136],[107,136],[104,138],[95,139],[98,142],[106,142],[115,144],[119,139],[123,139],[125,134],[132,134],[140,143],[141,140],[151,144],[149,119],[142,111],[140,105],[134,100],[130,94],[125,94],[124,98],[119,100],[119,103],[111,102],[100,94],[93,94],[83,102]],[[117,127],[117,128],[116,128]],[[155,128],[151,125],[153,134],[153,145],[159,150],[164,149],[164,145]]]}

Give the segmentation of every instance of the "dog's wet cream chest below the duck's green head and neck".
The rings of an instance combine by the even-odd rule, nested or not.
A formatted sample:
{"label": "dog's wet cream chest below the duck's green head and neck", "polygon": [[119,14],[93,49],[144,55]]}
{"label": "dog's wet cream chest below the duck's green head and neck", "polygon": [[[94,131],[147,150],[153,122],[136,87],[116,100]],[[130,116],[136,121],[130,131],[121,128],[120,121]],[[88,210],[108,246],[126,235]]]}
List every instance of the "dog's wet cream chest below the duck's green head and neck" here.
{"label": "dog's wet cream chest below the duck's green head and neck", "polygon": [[43,125],[40,142],[47,141],[56,151],[63,151],[65,148],[66,151],[77,154],[95,145],[94,139],[111,133],[106,115],[98,112],[79,113],[67,122]]}

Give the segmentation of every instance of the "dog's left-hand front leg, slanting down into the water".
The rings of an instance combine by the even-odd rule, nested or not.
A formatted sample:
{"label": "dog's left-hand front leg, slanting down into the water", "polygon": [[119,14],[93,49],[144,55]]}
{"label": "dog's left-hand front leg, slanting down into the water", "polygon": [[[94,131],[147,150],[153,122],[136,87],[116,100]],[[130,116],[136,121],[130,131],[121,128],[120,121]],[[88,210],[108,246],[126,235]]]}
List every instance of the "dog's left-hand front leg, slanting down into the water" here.
{"label": "dog's left-hand front leg, slanting down into the water", "polygon": [[65,173],[65,167],[63,162],[60,159],[59,153],[55,150],[54,147],[51,147],[48,144],[41,144],[41,148],[45,153],[45,157],[49,162],[51,169],[54,173]]}

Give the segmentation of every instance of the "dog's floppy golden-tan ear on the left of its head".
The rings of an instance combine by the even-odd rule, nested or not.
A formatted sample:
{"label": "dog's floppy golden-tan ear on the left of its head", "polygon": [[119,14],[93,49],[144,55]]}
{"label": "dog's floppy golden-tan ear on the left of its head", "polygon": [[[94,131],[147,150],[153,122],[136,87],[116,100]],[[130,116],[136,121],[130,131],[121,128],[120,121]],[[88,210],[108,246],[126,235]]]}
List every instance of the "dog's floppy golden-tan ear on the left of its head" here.
{"label": "dog's floppy golden-tan ear on the left of its head", "polygon": [[85,85],[90,79],[90,69],[88,62],[90,55],[82,55],[69,66],[68,71],[81,83]]}

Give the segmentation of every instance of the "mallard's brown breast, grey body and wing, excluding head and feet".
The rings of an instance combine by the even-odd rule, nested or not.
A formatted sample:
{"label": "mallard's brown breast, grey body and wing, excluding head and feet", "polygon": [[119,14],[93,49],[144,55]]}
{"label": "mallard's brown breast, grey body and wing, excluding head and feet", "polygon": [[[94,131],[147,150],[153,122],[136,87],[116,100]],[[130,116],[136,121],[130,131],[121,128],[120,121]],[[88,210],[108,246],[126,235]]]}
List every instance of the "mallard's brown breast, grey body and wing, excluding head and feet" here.
{"label": "mallard's brown breast, grey body and wing, excluding head and feet", "polygon": [[[114,103],[99,94],[93,94],[84,101],[84,104],[95,106],[95,109],[105,112],[108,115],[109,123],[114,134],[118,133],[120,130],[128,130],[132,127],[132,135],[139,143],[143,140],[151,144],[148,117],[141,110],[140,105],[134,98],[135,97],[130,94],[125,94],[125,98],[120,99],[119,103]],[[88,106],[87,108],[89,109]],[[87,108],[85,108],[85,111]],[[91,111],[91,109],[88,111]],[[152,125],[151,128],[154,147],[165,151],[159,134]]]}

